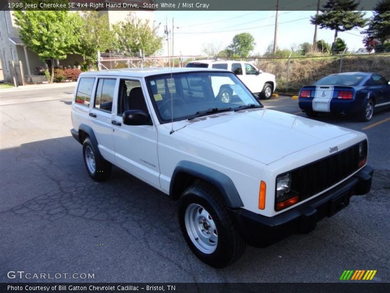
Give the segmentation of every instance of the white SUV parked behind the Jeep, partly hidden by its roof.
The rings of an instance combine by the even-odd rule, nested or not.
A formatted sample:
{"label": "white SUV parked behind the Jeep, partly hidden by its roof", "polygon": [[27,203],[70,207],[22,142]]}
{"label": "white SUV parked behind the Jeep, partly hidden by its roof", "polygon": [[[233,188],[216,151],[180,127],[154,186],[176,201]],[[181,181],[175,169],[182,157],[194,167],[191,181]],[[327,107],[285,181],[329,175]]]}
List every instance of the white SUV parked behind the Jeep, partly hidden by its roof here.
{"label": "white SUV parked behind the Jeep, partly hidden by its roof", "polygon": [[[227,60],[197,60],[187,63],[186,67],[191,68],[215,68],[233,71],[251,92],[263,98],[270,99],[276,89],[275,76],[271,73],[257,69],[253,64],[243,61]],[[219,87],[218,87],[219,89]],[[229,103],[229,99],[234,93],[227,88],[224,93],[224,101]]]}

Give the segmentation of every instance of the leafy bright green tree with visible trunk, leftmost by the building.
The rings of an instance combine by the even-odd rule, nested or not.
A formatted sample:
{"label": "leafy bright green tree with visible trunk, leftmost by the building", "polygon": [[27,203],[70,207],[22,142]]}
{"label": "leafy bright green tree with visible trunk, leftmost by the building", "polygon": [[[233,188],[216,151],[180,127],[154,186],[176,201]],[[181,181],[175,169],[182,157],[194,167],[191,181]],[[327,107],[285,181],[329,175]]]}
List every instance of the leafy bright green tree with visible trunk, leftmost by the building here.
{"label": "leafy bright green tree with visible trunk, leftmost by the building", "polygon": [[15,11],[20,39],[39,59],[52,62],[50,83],[54,79],[54,59],[75,53],[79,40],[79,18],[68,11]]}

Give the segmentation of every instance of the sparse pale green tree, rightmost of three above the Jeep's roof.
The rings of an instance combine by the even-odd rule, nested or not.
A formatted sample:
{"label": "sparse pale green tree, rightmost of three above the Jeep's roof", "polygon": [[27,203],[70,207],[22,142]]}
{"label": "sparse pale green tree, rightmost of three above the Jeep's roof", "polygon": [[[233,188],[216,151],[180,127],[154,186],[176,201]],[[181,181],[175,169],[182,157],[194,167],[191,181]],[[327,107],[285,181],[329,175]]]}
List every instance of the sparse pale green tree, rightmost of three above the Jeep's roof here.
{"label": "sparse pale green tree, rightmost of three above the Jeep's roof", "polygon": [[162,48],[162,37],[157,35],[158,25],[148,20],[140,21],[128,17],[115,25],[118,48],[125,54],[138,54],[141,49],[146,55],[153,55]]}

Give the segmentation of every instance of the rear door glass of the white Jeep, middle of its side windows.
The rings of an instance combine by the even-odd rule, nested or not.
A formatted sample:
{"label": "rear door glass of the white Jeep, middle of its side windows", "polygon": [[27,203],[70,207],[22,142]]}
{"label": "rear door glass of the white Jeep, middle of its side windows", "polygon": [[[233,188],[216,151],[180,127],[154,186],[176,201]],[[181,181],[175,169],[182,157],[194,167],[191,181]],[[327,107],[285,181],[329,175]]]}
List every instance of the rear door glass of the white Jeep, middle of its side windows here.
{"label": "rear door glass of the white Jeep, middle of its side windows", "polygon": [[116,83],[116,79],[100,78],[98,80],[94,108],[111,112]]}

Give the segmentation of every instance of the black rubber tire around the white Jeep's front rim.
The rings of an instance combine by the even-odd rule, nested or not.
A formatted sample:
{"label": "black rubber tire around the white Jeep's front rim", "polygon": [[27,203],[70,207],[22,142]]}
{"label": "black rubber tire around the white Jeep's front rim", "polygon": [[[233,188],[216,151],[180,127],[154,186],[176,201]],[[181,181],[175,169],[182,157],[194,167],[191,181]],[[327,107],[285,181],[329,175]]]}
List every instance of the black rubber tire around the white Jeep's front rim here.
{"label": "black rubber tire around the white Jeep's front rim", "polygon": [[[187,232],[185,216],[190,205],[200,205],[201,208],[204,208],[210,214],[210,220],[215,224],[215,234],[217,234],[218,240],[215,251],[211,253],[200,251],[191,240],[189,232]],[[238,260],[245,251],[245,242],[234,229],[225,202],[218,190],[212,185],[199,181],[183,192],[179,204],[179,223],[184,239],[190,249],[209,266],[214,268],[229,266]]]}

